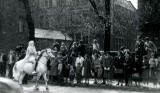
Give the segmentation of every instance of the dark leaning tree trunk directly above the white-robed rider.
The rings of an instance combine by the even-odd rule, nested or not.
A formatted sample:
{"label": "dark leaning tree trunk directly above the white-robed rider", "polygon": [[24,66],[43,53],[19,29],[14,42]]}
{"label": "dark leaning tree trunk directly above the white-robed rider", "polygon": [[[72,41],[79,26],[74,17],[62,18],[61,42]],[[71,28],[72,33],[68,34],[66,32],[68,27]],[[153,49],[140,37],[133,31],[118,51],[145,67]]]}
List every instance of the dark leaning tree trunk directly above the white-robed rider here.
{"label": "dark leaning tree trunk directly above the white-robed rider", "polygon": [[22,0],[22,3],[24,4],[24,8],[26,11],[26,21],[29,29],[29,40],[35,40],[35,27],[34,27],[34,21],[31,15],[31,8],[29,5],[29,1]]}

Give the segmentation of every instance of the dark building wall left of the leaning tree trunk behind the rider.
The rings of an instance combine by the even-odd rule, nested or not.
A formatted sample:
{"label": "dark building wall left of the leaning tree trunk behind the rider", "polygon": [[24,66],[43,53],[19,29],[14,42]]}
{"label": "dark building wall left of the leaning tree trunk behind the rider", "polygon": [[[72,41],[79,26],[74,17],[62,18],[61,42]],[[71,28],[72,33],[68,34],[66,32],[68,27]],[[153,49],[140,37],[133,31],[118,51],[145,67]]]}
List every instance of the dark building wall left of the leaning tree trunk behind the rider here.
{"label": "dark building wall left of the leaning tree trunk behind the rider", "polygon": [[20,0],[0,0],[0,49],[7,51],[27,44],[28,29],[23,3]]}

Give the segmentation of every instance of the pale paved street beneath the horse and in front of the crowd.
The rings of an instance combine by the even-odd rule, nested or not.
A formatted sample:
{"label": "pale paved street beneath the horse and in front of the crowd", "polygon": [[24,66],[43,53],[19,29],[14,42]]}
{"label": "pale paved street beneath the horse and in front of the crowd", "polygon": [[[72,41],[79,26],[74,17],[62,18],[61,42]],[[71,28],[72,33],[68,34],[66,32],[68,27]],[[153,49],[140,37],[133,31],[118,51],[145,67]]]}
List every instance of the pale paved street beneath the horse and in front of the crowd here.
{"label": "pale paved street beneath the horse and in front of the crowd", "polygon": [[64,86],[54,86],[49,85],[49,91],[45,90],[44,85],[40,85],[40,89],[38,91],[34,90],[34,85],[24,85],[23,87],[24,93],[159,93],[159,91],[131,91],[130,88],[128,90],[124,90],[123,88],[82,88],[82,87],[64,87]]}

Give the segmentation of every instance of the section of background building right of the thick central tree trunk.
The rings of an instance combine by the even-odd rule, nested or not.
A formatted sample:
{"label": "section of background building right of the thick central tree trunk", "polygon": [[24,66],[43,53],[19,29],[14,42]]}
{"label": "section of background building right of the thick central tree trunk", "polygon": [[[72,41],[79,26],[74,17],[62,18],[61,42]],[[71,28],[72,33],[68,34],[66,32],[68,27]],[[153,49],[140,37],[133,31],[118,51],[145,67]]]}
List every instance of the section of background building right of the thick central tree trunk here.
{"label": "section of background building right of the thick central tree trunk", "polygon": [[127,0],[113,0],[112,3],[111,50],[126,46],[133,51],[138,32],[137,10]]}

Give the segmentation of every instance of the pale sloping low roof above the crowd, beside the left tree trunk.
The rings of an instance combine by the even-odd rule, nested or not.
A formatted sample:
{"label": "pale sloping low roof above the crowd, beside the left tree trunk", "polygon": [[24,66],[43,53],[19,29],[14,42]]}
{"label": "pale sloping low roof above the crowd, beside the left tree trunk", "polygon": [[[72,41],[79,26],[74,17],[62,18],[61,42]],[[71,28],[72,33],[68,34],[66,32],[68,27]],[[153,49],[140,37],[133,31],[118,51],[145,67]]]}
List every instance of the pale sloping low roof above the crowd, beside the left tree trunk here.
{"label": "pale sloping low roof above the crowd, beside the left tree trunk", "polygon": [[[35,28],[35,38],[65,40],[65,35],[61,31]],[[71,41],[72,38],[66,35],[66,40]]]}

